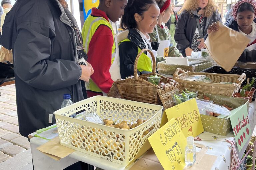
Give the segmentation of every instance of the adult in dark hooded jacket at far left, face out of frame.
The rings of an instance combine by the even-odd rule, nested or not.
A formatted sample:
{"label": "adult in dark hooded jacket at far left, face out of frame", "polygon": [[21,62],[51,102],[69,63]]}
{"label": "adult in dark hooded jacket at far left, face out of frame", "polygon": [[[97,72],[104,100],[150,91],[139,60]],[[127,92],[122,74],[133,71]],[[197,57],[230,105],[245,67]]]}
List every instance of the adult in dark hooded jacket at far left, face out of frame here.
{"label": "adult in dark hooded jacket at far left, face out of frame", "polygon": [[13,49],[22,136],[55,123],[49,114],[60,109],[63,94],[84,99],[80,79],[89,81],[93,70],[77,63],[81,44],[71,22],[77,25],[63,0],[17,0],[5,17],[0,44]]}

